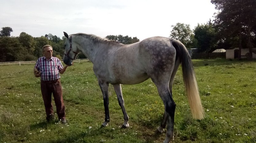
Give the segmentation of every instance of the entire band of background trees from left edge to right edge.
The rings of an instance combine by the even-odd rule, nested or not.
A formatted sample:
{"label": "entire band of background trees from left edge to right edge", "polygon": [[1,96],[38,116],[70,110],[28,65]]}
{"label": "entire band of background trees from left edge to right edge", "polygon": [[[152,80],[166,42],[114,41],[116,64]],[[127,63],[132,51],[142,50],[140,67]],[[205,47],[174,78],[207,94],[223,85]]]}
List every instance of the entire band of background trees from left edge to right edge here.
{"label": "entire band of background trees from left edge to right edge", "polygon": [[[214,20],[198,24],[193,30],[189,24],[176,23],[172,25],[169,38],[181,41],[187,48],[197,48],[199,52],[212,52],[218,48],[233,49],[248,48],[249,59],[252,58],[252,48],[256,47],[256,1],[255,0],[211,0],[215,9]],[[2,27],[0,31],[0,62],[31,61],[42,56],[41,47],[52,45],[53,56],[62,59],[63,45],[66,38],[45,34],[41,37],[32,37],[21,32],[18,37],[10,37],[11,27]],[[107,35],[107,39],[122,44],[138,42],[137,37],[131,38],[122,35]],[[83,54],[77,58],[86,58]]]}

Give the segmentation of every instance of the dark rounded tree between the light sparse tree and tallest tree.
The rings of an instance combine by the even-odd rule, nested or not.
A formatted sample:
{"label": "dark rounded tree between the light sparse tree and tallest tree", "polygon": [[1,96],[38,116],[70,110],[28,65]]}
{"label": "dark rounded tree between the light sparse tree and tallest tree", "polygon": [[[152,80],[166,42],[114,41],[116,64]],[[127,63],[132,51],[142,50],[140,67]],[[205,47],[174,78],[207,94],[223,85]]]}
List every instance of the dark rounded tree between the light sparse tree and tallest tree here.
{"label": "dark rounded tree between the light sparse tree and tallest tree", "polygon": [[[215,48],[216,32],[211,20],[207,24],[198,24],[194,29],[194,38],[199,52],[209,52]],[[215,49],[214,49],[215,50]]]}

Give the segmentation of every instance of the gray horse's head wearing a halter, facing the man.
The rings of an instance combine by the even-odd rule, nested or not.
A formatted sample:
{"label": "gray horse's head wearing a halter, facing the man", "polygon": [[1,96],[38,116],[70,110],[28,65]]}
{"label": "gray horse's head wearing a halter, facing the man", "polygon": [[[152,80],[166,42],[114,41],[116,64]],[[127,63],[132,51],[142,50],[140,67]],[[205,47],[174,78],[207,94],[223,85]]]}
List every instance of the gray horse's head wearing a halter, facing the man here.
{"label": "gray horse's head wearing a halter, facing the man", "polygon": [[65,44],[64,44],[64,57],[63,57],[63,62],[68,65],[71,66],[73,60],[76,59],[76,56],[78,55],[78,49],[76,47],[76,45],[74,43],[72,43],[72,36],[68,36],[68,34],[66,32],[64,32],[64,36],[67,38]]}

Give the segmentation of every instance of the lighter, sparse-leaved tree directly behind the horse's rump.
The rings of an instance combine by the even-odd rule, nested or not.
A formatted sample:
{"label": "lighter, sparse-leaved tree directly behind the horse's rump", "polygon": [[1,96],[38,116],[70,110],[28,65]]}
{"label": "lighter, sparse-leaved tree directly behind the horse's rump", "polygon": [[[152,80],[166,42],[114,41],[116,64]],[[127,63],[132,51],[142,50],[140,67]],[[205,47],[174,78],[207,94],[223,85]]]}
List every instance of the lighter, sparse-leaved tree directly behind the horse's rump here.
{"label": "lighter, sparse-leaved tree directly behind the horse's rump", "polygon": [[173,29],[169,38],[179,40],[187,48],[192,48],[194,36],[192,30],[190,29],[190,25],[184,23],[176,23],[176,25],[172,25],[171,27]]}

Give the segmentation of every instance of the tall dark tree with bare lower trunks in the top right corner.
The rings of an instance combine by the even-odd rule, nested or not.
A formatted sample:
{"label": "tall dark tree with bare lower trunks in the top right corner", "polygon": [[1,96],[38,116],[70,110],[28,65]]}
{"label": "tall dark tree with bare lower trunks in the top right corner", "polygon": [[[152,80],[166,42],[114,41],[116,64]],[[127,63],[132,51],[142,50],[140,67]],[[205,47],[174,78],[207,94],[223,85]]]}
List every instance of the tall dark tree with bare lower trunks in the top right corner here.
{"label": "tall dark tree with bare lower trunks in the top right corner", "polygon": [[239,59],[243,36],[249,48],[249,59],[252,58],[252,30],[256,27],[255,0],[211,0],[215,9],[220,12],[215,16],[215,27],[219,39],[233,39],[239,47]]}

